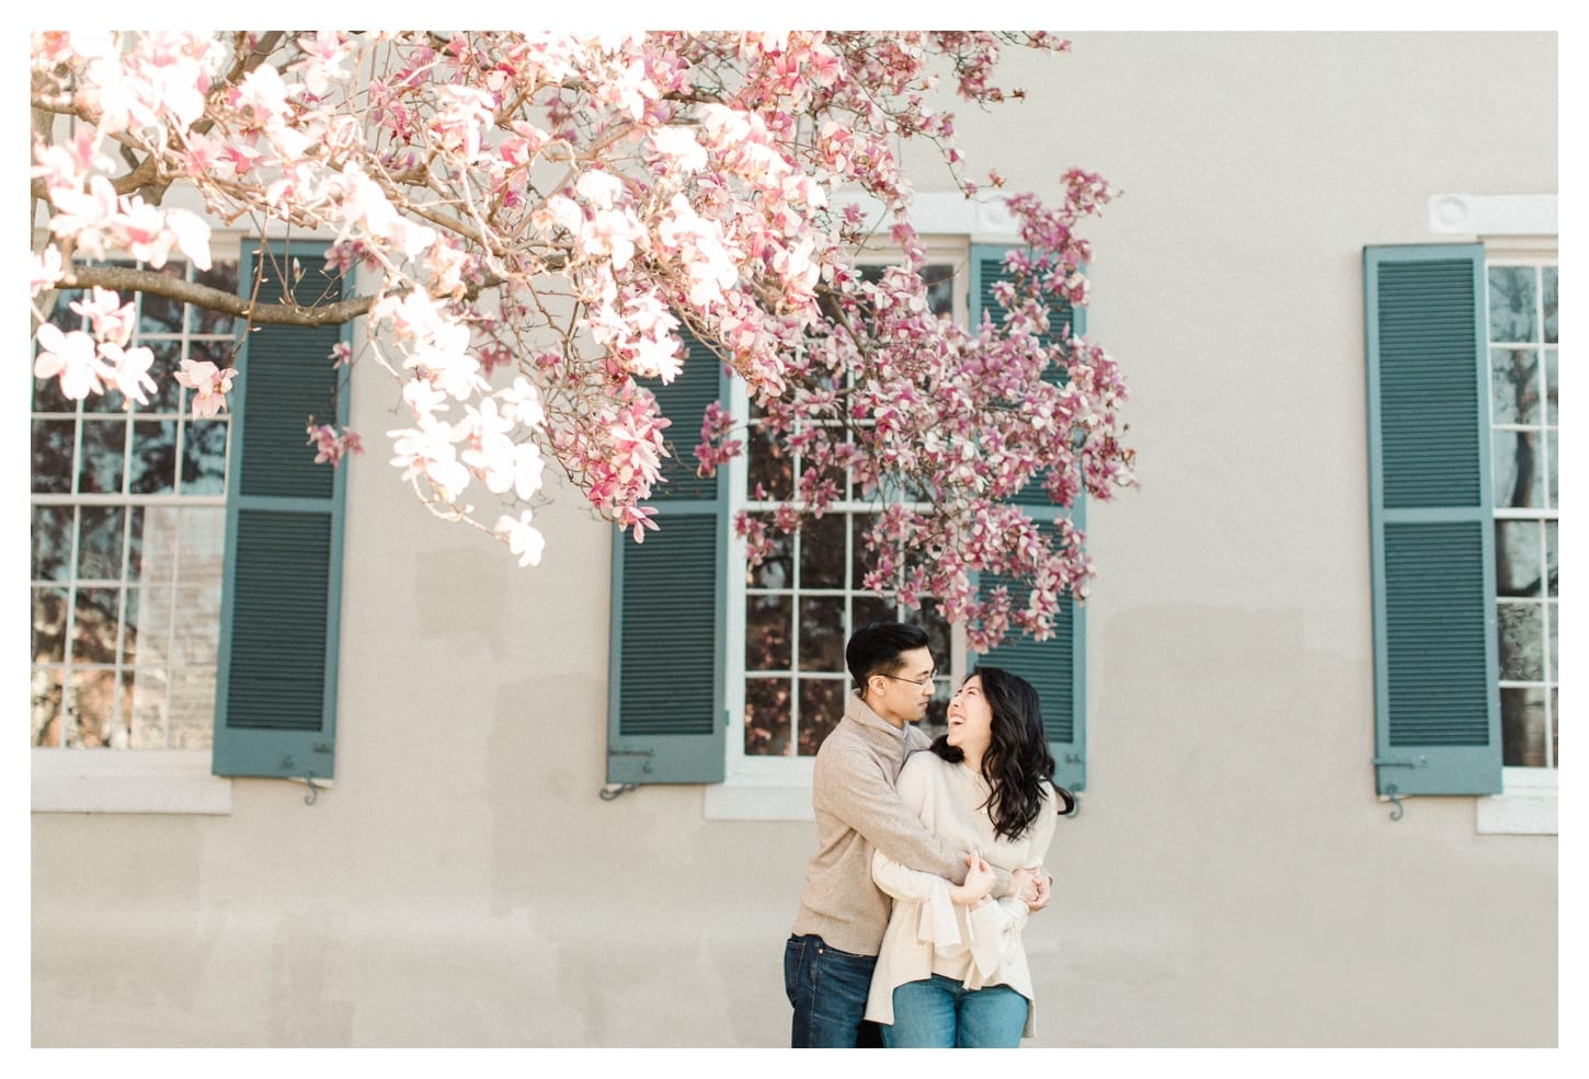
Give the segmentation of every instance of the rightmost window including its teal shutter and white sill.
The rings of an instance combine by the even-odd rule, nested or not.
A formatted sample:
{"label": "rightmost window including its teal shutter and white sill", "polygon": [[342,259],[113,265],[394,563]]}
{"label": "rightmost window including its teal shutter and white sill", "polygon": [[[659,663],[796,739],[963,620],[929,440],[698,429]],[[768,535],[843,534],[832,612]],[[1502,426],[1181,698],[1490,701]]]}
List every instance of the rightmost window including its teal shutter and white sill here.
{"label": "rightmost window including its teal shutter and white sill", "polygon": [[1479,831],[1554,833],[1554,253],[1365,248],[1363,269],[1378,790],[1505,795]]}

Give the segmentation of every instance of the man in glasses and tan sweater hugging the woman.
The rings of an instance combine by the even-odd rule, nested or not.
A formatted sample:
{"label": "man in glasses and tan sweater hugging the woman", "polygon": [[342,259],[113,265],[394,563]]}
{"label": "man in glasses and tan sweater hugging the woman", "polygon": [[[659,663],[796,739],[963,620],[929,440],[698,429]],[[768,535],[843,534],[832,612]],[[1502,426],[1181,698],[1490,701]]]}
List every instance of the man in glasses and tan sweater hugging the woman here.
{"label": "man in glasses and tan sweater hugging the woman", "polygon": [[[890,899],[872,884],[872,849],[953,884],[968,855],[938,839],[895,793],[912,750],[928,747],[915,726],[933,699],[933,653],[920,626],[874,621],[850,637],[845,666],[855,679],[844,718],[817,750],[812,809],[817,853],[806,866],[799,914],[783,952],[783,987],[794,1006],[796,1049],[879,1046],[863,1022]],[[995,869],[993,895],[1049,901],[1047,877]]]}

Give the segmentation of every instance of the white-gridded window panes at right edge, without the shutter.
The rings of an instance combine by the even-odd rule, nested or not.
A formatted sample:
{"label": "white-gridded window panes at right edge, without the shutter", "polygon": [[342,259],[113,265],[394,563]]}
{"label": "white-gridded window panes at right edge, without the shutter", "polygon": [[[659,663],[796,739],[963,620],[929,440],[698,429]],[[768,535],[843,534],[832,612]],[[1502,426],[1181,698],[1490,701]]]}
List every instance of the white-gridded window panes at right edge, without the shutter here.
{"label": "white-gridded window panes at right edge, without the shutter", "polygon": [[1490,259],[1490,453],[1502,761],[1559,764],[1557,265]]}

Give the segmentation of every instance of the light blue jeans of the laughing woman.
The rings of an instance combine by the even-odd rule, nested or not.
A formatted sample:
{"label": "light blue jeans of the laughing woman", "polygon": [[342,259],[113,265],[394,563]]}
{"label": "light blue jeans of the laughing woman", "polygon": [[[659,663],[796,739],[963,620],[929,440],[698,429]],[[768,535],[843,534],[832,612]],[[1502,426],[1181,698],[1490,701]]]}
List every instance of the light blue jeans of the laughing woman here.
{"label": "light blue jeans of the laughing woman", "polygon": [[895,987],[895,1022],[883,1027],[888,1049],[1015,1049],[1026,1028],[1026,998],[1009,985],[966,988],[933,974]]}

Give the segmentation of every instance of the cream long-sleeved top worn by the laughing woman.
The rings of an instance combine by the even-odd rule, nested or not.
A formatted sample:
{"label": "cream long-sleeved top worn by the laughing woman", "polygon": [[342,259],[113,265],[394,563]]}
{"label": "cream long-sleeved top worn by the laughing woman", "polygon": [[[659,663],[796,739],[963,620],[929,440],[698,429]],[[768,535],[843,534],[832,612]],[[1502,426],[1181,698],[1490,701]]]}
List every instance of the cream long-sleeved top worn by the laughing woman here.
{"label": "cream long-sleeved top worn by the laughing woman", "polygon": [[[931,752],[912,753],[899,771],[899,798],[936,836],[961,850],[980,852],[990,866],[1041,866],[1054,839],[1055,795],[1044,785],[1044,802],[1031,828],[1015,841],[993,834],[985,802],[988,782],[965,764],[950,764]],[[1009,985],[1031,1001],[1031,971],[1020,931],[1025,901],[1009,896],[968,909],[949,898],[950,882],[909,869],[880,850],[872,853],[872,879],[893,896],[883,933],[866,1019],[893,1023],[893,992],[906,982],[944,974],[966,988]],[[1026,1007],[1025,1036],[1034,1030],[1036,1007]]]}

